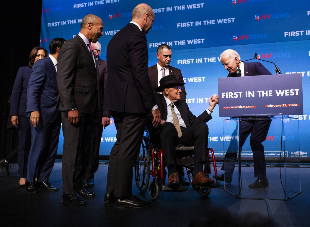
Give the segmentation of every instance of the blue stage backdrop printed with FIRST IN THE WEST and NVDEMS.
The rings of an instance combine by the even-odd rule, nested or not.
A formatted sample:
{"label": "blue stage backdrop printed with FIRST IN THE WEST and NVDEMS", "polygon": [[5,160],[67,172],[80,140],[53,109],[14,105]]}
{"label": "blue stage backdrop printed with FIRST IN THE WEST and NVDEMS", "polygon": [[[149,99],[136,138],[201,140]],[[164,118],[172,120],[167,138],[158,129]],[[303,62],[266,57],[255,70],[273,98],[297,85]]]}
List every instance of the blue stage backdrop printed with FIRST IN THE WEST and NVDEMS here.
{"label": "blue stage backdrop printed with FIRST IN THE WEST and NVDEMS", "polygon": [[[134,0],[43,0],[41,46],[48,49],[50,40],[55,37],[73,38],[80,30],[82,18],[91,13],[99,16],[104,24],[104,36],[99,42],[102,45],[100,58],[105,60],[109,40],[131,21],[132,10],[138,3]],[[275,62],[283,74],[302,73],[304,114],[295,116],[299,127],[294,127],[290,137],[296,140],[295,144],[299,137],[300,146],[292,147],[288,155],[300,151],[302,156],[310,156],[310,1],[146,0],[144,3],[155,13],[153,28],[147,35],[148,65],[157,63],[159,44],[171,47],[170,65],[181,69],[186,82],[187,103],[196,115],[208,106],[207,98],[218,93],[218,78],[228,75],[219,59],[225,49],[235,49],[241,60],[253,58],[257,52],[261,59]],[[275,74],[273,64],[263,65]],[[223,119],[218,117],[217,107],[212,116],[208,122],[209,146],[220,155],[227,146],[221,141]],[[266,153],[279,150],[281,127],[274,122],[263,143]],[[232,126],[227,136],[233,129]],[[113,123],[104,129],[100,155],[109,155],[115,135]],[[58,154],[62,153],[62,146],[60,135]],[[249,145],[244,146],[250,151]]]}

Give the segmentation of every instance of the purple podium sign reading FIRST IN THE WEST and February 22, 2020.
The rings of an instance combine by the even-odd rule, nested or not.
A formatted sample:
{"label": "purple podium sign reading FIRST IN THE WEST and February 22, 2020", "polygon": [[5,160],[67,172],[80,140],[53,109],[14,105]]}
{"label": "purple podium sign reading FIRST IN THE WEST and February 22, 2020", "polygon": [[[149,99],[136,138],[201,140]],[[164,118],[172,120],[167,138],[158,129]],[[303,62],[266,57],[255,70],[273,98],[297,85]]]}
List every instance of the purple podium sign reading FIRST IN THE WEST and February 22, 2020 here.
{"label": "purple podium sign reading FIRST IN THE WEST and February 22, 2020", "polygon": [[219,116],[303,114],[301,73],[218,78]]}

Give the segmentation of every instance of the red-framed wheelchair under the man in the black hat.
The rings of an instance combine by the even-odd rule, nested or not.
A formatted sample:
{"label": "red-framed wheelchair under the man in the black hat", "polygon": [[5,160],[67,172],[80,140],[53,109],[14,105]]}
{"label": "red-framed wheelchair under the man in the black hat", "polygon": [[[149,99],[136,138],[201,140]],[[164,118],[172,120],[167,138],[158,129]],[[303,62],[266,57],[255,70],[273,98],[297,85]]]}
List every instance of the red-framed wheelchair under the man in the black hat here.
{"label": "red-framed wheelchair under the man in the black hat", "polygon": [[[172,189],[164,185],[164,164],[163,164],[163,153],[162,150],[159,148],[155,148],[152,145],[150,134],[148,132],[148,128],[145,130],[146,134],[142,137],[140,151],[137,156],[136,162],[135,162],[135,182],[137,185],[137,188],[141,193],[145,193],[148,190],[148,193],[150,197],[155,200],[159,196],[159,192],[182,192],[187,191],[187,187],[179,187],[177,189]],[[178,145],[175,148],[176,151],[178,151],[178,156],[176,159],[176,164],[180,164],[183,167],[186,168],[186,172],[188,175],[189,182],[192,185],[192,179],[193,179],[193,146],[183,146]],[[217,178],[217,169],[216,169],[216,163],[215,163],[215,156],[214,151],[212,148],[207,148],[206,155],[207,155],[207,161],[204,165],[204,174],[207,178],[210,177],[211,173],[211,157],[210,152],[212,155],[212,162],[214,166],[214,173],[216,176],[216,182],[208,187],[206,186],[200,186],[193,188],[196,191],[199,191],[203,196],[208,196],[211,192],[211,188],[218,188],[220,187],[220,183]],[[151,169],[152,165],[152,169]],[[151,183],[150,181],[150,175],[152,174],[153,180]]]}

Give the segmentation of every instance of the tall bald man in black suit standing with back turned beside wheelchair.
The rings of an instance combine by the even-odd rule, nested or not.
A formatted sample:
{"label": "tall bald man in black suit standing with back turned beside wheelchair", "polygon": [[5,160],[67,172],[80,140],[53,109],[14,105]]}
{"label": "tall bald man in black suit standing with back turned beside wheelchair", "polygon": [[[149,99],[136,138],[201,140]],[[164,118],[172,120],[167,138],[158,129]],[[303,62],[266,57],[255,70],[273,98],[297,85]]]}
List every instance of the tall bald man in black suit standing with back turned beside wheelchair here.
{"label": "tall bald man in black suit standing with back turned beside wheelchair", "polygon": [[152,111],[154,126],[161,120],[148,76],[145,36],[152,28],[154,16],[150,6],[139,4],[132,12],[132,21],[113,36],[107,47],[108,82],[103,108],[112,111],[117,141],[110,153],[104,202],[116,199],[117,208],[151,206],[132,195],[132,168],[146,114]]}

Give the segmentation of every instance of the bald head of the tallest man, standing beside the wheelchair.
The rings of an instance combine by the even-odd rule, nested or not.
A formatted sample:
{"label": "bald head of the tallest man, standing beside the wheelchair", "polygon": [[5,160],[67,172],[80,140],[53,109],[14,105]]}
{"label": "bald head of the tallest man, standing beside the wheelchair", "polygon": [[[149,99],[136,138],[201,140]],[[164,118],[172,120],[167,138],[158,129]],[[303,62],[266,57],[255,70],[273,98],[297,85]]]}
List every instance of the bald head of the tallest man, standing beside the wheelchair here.
{"label": "bald head of the tallest man, standing beside the wheelchair", "polygon": [[154,17],[152,8],[147,4],[141,3],[132,11],[131,20],[141,27],[144,34],[148,34],[148,31],[152,28]]}

